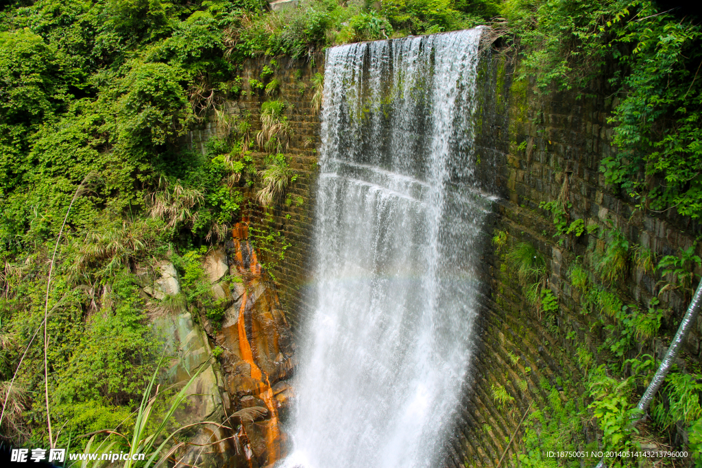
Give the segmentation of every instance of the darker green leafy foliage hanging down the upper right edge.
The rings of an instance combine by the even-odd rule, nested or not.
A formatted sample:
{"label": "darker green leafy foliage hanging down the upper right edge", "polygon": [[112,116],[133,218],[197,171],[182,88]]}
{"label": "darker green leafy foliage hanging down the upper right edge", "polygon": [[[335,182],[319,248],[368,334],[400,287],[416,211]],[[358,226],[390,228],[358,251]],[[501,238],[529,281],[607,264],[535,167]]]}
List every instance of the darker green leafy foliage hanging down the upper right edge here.
{"label": "darker green leafy foliage hanging down the upper right edge", "polygon": [[[602,170],[608,182],[621,185],[642,206],[675,206],[678,213],[698,218],[702,87],[692,64],[702,58],[702,29],[653,3],[641,2],[638,9],[640,17],[649,18],[628,21],[617,31],[618,41],[634,50],[620,58],[631,68],[622,83],[627,92],[613,117],[620,150],[602,161]],[[650,189],[649,178],[661,183]]]}

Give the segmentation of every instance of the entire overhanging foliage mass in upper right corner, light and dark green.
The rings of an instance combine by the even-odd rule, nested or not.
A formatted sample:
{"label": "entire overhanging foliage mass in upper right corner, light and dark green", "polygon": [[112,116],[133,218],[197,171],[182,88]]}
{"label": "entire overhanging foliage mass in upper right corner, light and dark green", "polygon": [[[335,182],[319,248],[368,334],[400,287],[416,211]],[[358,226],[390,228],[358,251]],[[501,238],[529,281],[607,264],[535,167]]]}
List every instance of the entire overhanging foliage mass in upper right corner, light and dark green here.
{"label": "entire overhanging foliage mass in upper right corner, light and dark green", "polygon": [[607,182],[640,208],[698,218],[702,26],[654,1],[508,0],[502,14],[542,90],[582,91],[605,62],[618,62],[610,80],[620,98],[611,119],[618,151],[602,160]]}

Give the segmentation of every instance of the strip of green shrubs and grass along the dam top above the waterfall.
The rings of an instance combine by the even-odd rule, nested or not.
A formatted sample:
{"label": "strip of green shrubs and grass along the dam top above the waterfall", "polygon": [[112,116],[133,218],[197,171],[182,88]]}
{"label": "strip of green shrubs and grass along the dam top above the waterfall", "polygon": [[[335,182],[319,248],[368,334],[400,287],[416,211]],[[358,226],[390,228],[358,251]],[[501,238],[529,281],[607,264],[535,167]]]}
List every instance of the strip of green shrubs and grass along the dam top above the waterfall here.
{"label": "strip of green shrubs and grass along the dam top above the waterfall", "polygon": [[465,29],[498,13],[488,0],[389,0],[380,10],[349,2],[306,0],[298,8],[244,13],[225,31],[234,60],[289,55],[312,58],[326,46]]}

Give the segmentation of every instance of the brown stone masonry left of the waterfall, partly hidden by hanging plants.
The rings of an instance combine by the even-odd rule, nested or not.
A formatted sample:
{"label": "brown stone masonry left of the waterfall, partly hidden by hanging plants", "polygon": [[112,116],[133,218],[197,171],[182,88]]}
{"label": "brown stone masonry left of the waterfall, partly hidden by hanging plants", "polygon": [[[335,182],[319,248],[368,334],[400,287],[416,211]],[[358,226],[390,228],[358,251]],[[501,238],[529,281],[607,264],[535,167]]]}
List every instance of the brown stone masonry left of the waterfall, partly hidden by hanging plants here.
{"label": "brown stone masonry left of the waterfall, partly hidden by hanging plants", "polygon": [[[269,67],[273,74],[262,79],[261,72]],[[278,58],[271,63],[267,60],[248,60],[241,66],[237,76],[241,77],[241,93],[237,100],[227,102],[225,113],[237,119],[249,119],[251,135],[255,139],[260,130],[260,105],[266,100],[285,102],[283,115],[290,123],[291,135],[285,151],[289,165],[297,175],[296,180],[286,189],[285,196],[291,196],[292,203],[276,203],[270,209],[272,221],[260,208],[242,213],[249,222],[258,227],[271,229],[283,234],[290,246],[284,251],[284,258],[272,268],[272,276],[278,288],[293,327],[298,325],[298,316],[304,308],[302,297],[309,276],[309,258],[312,243],[312,218],[314,209],[314,183],[317,175],[317,147],[319,146],[319,117],[312,109],[312,76],[324,72],[324,57],[314,60],[293,60]],[[269,83],[277,79],[280,83],[276,94],[268,97],[263,89],[252,89],[250,80]],[[188,133],[185,145],[202,154],[206,152],[206,142],[217,134],[214,112],[209,113],[199,128]],[[253,152],[258,168],[263,168],[264,153]],[[256,189],[256,187],[254,187]],[[301,201],[301,203],[300,203]],[[280,243],[276,248],[280,249]],[[265,259],[264,259],[265,260]]]}

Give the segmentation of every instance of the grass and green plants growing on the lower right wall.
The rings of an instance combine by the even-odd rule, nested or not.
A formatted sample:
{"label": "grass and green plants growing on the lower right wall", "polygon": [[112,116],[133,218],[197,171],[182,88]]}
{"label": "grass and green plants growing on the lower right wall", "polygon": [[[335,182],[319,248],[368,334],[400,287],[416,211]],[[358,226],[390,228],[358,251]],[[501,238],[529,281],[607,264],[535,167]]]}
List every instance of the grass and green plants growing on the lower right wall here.
{"label": "grass and green plants growing on the lower right wall", "polygon": [[[651,380],[656,363],[651,356],[642,355],[636,352],[636,349],[640,349],[640,342],[649,342],[659,336],[661,323],[665,317],[670,316],[670,311],[661,308],[661,303],[656,297],[649,300],[648,307],[638,304],[625,305],[616,285],[625,279],[625,275],[630,271],[630,264],[635,264],[646,268],[651,274],[658,274],[672,281],[661,281],[658,285],[661,290],[682,288],[687,284],[692,265],[700,265],[700,262],[693,258],[690,253],[692,250],[680,258],[670,256],[656,262],[655,255],[640,246],[630,248],[616,229],[604,229],[601,236],[608,241],[601,250],[597,250],[597,243],[590,246],[588,258],[594,266],[590,265],[588,269],[583,265],[583,259],[577,258],[571,263],[567,276],[571,286],[577,291],[574,297],[581,305],[581,314],[588,316],[586,320],[590,323],[590,333],[593,329],[600,329],[604,340],[597,348],[597,354],[592,354],[585,346],[576,350],[576,361],[585,376],[583,382],[574,385],[573,382],[561,380],[562,387],[558,390],[562,393],[549,382],[541,382],[543,391],[550,392],[548,402],[526,415],[524,429],[520,429],[523,435],[517,444],[519,454],[516,457],[519,463],[525,466],[580,466],[580,458],[547,457],[546,451],[640,450],[645,441],[646,436],[640,436],[638,429],[633,427],[630,421],[637,415],[635,406],[641,389]],[[522,286],[524,297],[529,300],[529,288],[533,287],[534,281],[539,281],[540,277],[544,277],[542,275],[548,274],[541,253],[530,243],[512,239],[504,231],[496,231],[493,245],[505,262],[507,271],[514,274]],[[635,255],[630,255],[630,250],[634,250]],[[642,250],[643,253],[638,254]],[[612,262],[614,267],[610,266],[609,269],[598,267],[612,258],[621,262]],[[654,267],[651,267],[652,262],[655,262]],[[680,268],[679,276],[673,274],[675,267]],[[553,302],[553,310],[558,313],[558,297],[554,296]],[[538,317],[539,309],[535,309],[534,312]],[[549,329],[555,336],[561,333],[558,327]],[[578,342],[574,332],[565,338],[575,340],[574,344]],[[513,363],[516,364],[514,360]],[[656,403],[651,410],[658,437],[673,430],[670,429],[673,420],[684,424],[689,432],[689,450],[699,446],[698,426],[701,419],[698,415],[698,396],[702,394],[702,387],[695,383],[699,376],[694,368],[691,373],[671,373],[666,379],[668,383],[665,392],[656,397]],[[529,375],[525,377],[529,378]],[[529,386],[519,388],[525,392]],[[493,385],[493,399],[498,408],[503,408],[504,402],[511,396],[505,390],[502,386]],[[564,398],[565,395],[578,394],[581,395],[579,401]],[[555,398],[556,395],[559,395],[559,398]],[[536,398],[538,399],[538,396]],[[567,404],[562,404],[563,401],[567,401]],[[594,424],[599,429],[601,444],[592,441],[587,443],[583,439],[582,427],[588,424]],[[576,428],[574,437],[563,438],[567,428]],[[694,451],[691,453],[696,454]],[[698,460],[698,456],[693,455],[693,459]],[[596,464],[599,460],[595,457],[585,461]],[[637,459],[618,459],[617,463],[621,466],[634,466]]]}

